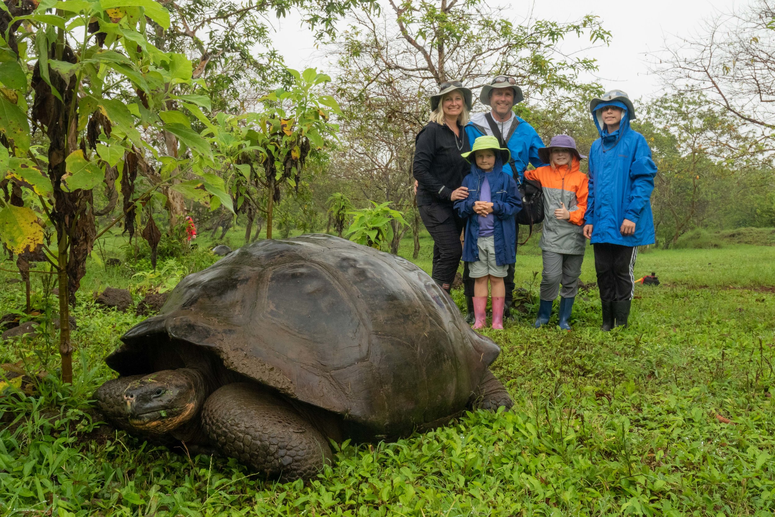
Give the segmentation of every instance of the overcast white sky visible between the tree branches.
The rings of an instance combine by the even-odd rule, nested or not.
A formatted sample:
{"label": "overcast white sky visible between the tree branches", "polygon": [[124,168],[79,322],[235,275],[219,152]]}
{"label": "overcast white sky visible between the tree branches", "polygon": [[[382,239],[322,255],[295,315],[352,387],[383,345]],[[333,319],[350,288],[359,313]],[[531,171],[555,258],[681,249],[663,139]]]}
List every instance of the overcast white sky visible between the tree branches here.
{"label": "overcast white sky visible between the tree branches", "polygon": [[[649,98],[660,91],[659,78],[649,74],[646,53],[660,50],[665,41],[676,36],[690,36],[701,28],[703,19],[717,12],[730,12],[746,5],[748,0],[647,0],[646,2],[601,2],[601,0],[541,0],[539,2],[510,2],[512,19],[525,19],[532,11],[536,19],[554,19],[567,22],[585,14],[603,19],[605,29],[613,38],[610,47],[588,50],[587,57],[598,59],[598,81],[604,88],[619,88],[631,98]],[[493,0],[493,5],[508,5]],[[389,9],[389,8],[388,8]],[[286,19],[274,21],[277,30],[275,47],[284,55],[292,68],[318,67],[326,70],[322,52],[315,49],[315,39],[300,25],[295,13]],[[563,50],[577,50],[584,46],[570,38]]]}

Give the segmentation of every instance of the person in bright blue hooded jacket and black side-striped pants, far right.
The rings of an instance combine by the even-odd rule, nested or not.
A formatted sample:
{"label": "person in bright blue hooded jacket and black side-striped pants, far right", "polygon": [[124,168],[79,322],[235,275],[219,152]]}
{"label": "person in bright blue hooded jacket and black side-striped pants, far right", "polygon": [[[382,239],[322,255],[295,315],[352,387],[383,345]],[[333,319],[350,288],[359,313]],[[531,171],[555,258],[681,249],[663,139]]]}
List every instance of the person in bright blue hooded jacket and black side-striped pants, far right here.
{"label": "person in bright blue hooded jacket and black side-striped pants, far right", "polygon": [[605,331],[627,326],[638,246],[654,243],[651,192],[656,165],[624,91],[609,91],[590,102],[600,138],[589,152],[589,197],[584,236],[594,246],[594,268]]}

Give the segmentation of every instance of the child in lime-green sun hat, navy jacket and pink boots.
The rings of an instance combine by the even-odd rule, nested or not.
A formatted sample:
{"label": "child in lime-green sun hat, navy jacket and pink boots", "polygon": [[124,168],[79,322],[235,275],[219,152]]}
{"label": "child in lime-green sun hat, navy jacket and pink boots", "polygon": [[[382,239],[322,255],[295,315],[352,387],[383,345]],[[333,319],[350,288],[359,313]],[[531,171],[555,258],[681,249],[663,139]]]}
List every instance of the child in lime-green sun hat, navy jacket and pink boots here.
{"label": "child in lime-green sun hat, navy jacket and pink boots", "polygon": [[515,262],[514,216],[522,209],[522,202],[514,179],[503,171],[510,153],[501,149],[497,138],[480,136],[471,151],[462,156],[471,164],[470,173],[463,178],[468,197],[456,201],[455,210],[466,222],[463,260],[475,282],[474,329],[484,327],[487,284],[492,296],[492,328],[503,329],[503,278],[508,264]]}

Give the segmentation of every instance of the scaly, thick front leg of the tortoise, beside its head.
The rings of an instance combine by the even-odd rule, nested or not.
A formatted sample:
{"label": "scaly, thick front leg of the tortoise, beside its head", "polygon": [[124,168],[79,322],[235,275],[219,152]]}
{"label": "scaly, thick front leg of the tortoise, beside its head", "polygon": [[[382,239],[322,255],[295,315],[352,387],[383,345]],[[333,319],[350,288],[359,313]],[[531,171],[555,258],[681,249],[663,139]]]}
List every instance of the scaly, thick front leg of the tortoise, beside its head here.
{"label": "scaly, thick front leg of the tortoise, beside its head", "polygon": [[226,456],[283,481],[309,479],[332,459],[311,422],[288,402],[253,384],[219,388],[205,401],[202,427]]}

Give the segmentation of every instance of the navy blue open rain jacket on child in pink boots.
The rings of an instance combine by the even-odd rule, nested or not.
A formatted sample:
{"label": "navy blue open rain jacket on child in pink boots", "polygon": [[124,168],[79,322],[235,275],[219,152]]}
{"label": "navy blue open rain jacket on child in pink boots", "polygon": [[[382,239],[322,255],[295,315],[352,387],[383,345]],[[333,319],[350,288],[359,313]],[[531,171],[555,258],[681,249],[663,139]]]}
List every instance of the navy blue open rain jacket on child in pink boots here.
{"label": "navy blue open rain jacket on child in pink boots", "polygon": [[[455,202],[455,210],[466,219],[466,233],[463,240],[463,260],[479,260],[479,217],[474,212],[474,202],[479,201],[479,188],[484,181],[484,171],[471,164],[471,172],[463,178],[463,187],[468,188],[468,197]],[[514,216],[522,209],[522,201],[517,195],[517,184],[503,171],[500,158],[496,160],[492,172],[487,173],[490,183],[490,201],[494,217],[493,240],[495,243],[495,263],[498,266],[514,264],[516,257],[517,226]]]}

